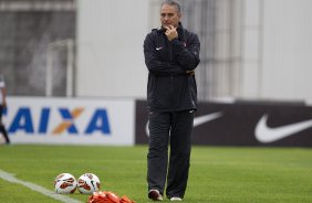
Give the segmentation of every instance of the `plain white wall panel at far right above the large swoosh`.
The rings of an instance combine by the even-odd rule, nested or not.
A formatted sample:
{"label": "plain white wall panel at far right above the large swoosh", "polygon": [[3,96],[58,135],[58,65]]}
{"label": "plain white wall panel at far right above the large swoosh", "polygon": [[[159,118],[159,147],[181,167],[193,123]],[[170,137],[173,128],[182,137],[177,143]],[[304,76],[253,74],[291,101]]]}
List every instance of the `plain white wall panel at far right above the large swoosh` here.
{"label": "plain white wall panel at far right above the large swoosh", "polygon": [[311,8],[310,0],[264,1],[262,97],[312,104]]}

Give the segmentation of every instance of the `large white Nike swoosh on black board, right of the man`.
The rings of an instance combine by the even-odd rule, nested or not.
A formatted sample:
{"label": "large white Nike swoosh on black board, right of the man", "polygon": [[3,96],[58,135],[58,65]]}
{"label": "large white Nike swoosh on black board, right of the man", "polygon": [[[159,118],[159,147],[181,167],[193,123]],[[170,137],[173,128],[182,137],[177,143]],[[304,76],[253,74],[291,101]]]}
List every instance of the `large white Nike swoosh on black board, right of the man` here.
{"label": "large white Nike swoosh on black board, right of the man", "polygon": [[270,128],[267,125],[268,115],[263,115],[256,126],[254,135],[258,141],[269,143],[298,133],[312,127],[312,119]]}

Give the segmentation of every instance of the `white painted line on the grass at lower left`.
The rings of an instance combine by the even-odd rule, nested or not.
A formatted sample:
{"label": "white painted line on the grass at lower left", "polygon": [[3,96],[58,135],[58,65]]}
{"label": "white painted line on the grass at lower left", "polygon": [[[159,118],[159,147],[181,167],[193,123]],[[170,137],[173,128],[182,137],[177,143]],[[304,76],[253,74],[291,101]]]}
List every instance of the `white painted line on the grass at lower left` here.
{"label": "white painted line on the grass at lower left", "polygon": [[17,179],[14,175],[2,171],[0,169],[0,178],[8,181],[8,182],[12,182],[12,183],[18,183],[18,184],[22,184],[33,191],[40,192],[41,194],[44,194],[45,196],[50,196],[54,200],[59,200],[61,202],[65,202],[65,203],[81,203],[81,201],[77,201],[75,199],[71,199],[69,196],[62,195],[62,194],[56,194],[54,192],[51,192],[50,190],[44,189],[43,186],[40,186],[38,184],[31,183],[31,182],[25,182],[22,180]]}

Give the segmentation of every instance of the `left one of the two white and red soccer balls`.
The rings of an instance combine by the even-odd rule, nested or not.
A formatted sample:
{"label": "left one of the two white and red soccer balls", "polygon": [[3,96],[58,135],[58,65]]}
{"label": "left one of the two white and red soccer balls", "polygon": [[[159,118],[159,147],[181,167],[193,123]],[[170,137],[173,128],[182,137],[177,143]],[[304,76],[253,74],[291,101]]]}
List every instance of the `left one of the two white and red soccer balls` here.
{"label": "left one of the two white and red soccer balls", "polygon": [[74,193],[76,185],[76,179],[71,173],[61,173],[54,179],[54,190],[59,194]]}

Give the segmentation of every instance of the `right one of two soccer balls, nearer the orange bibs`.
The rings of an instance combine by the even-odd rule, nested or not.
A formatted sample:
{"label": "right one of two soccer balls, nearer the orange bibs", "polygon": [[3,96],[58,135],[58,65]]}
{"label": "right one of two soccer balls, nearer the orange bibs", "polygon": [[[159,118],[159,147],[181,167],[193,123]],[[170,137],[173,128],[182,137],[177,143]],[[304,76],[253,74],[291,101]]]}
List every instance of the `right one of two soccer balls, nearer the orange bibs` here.
{"label": "right one of two soccer balls, nearer the orange bibs", "polygon": [[77,189],[83,194],[100,191],[100,179],[93,173],[84,173],[77,180]]}

